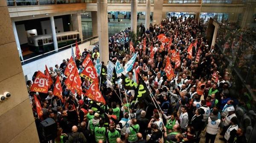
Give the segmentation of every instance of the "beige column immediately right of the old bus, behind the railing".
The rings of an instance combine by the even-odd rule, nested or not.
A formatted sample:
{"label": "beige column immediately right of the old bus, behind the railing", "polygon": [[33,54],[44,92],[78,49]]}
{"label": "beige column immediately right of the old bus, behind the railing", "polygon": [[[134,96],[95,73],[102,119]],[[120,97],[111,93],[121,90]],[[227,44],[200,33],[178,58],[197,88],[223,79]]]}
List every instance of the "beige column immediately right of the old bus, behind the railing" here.
{"label": "beige column immediately right of the old bus, behind the railing", "polygon": [[83,30],[82,30],[82,21],[81,14],[71,14],[73,31],[78,31],[81,41],[83,41]]}

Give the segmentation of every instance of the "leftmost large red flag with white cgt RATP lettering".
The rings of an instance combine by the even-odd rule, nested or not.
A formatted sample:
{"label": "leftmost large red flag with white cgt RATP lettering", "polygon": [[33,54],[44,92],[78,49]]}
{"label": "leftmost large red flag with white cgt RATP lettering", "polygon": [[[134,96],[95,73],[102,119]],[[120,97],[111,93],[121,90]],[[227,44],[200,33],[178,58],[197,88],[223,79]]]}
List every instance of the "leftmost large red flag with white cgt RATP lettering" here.
{"label": "leftmost large red flag with white cgt RATP lettering", "polygon": [[38,73],[35,76],[34,83],[32,84],[32,87],[30,91],[38,92],[38,93],[47,93],[48,92],[48,79],[42,73],[41,71],[38,70]]}

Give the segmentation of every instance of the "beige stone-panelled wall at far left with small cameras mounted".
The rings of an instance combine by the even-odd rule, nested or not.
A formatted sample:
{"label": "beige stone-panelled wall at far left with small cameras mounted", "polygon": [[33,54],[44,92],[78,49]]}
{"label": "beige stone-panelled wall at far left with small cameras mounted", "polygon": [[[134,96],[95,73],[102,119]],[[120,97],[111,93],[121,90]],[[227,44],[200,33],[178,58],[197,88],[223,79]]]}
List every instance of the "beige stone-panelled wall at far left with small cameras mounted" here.
{"label": "beige stone-panelled wall at far left with small cameras mounted", "polygon": [[0,142],[39,143],[6,0],[0,1]]}

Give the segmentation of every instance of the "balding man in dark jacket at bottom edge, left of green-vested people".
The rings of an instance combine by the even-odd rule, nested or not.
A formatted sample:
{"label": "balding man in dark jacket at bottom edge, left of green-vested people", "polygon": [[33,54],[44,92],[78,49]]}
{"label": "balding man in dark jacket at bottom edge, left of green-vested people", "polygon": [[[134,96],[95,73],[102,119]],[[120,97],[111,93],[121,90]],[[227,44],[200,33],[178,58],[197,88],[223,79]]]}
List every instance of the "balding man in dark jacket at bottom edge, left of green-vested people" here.
{"label": "balding man in dark jacket at bottom edge, left of green-vested people", "polygon": [[87,140],[84,137],[84,134],[77,131],[78,131],[77,126],[73,126],[72,135],[68,137],[68,142],[69,143],[87,143]]}

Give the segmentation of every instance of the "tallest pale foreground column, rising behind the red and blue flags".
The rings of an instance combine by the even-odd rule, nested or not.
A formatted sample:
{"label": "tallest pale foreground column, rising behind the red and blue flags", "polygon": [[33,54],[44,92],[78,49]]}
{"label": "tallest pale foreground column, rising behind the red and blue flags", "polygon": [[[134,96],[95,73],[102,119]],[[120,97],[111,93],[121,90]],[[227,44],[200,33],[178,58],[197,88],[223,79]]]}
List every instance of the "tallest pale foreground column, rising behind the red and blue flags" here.
{"label": "tallest pale foreground column, rising behind the red and blue flags", "polygon": [[97,20],[99,35],[99,57],[108,64],[108,0],[97,0]]}

